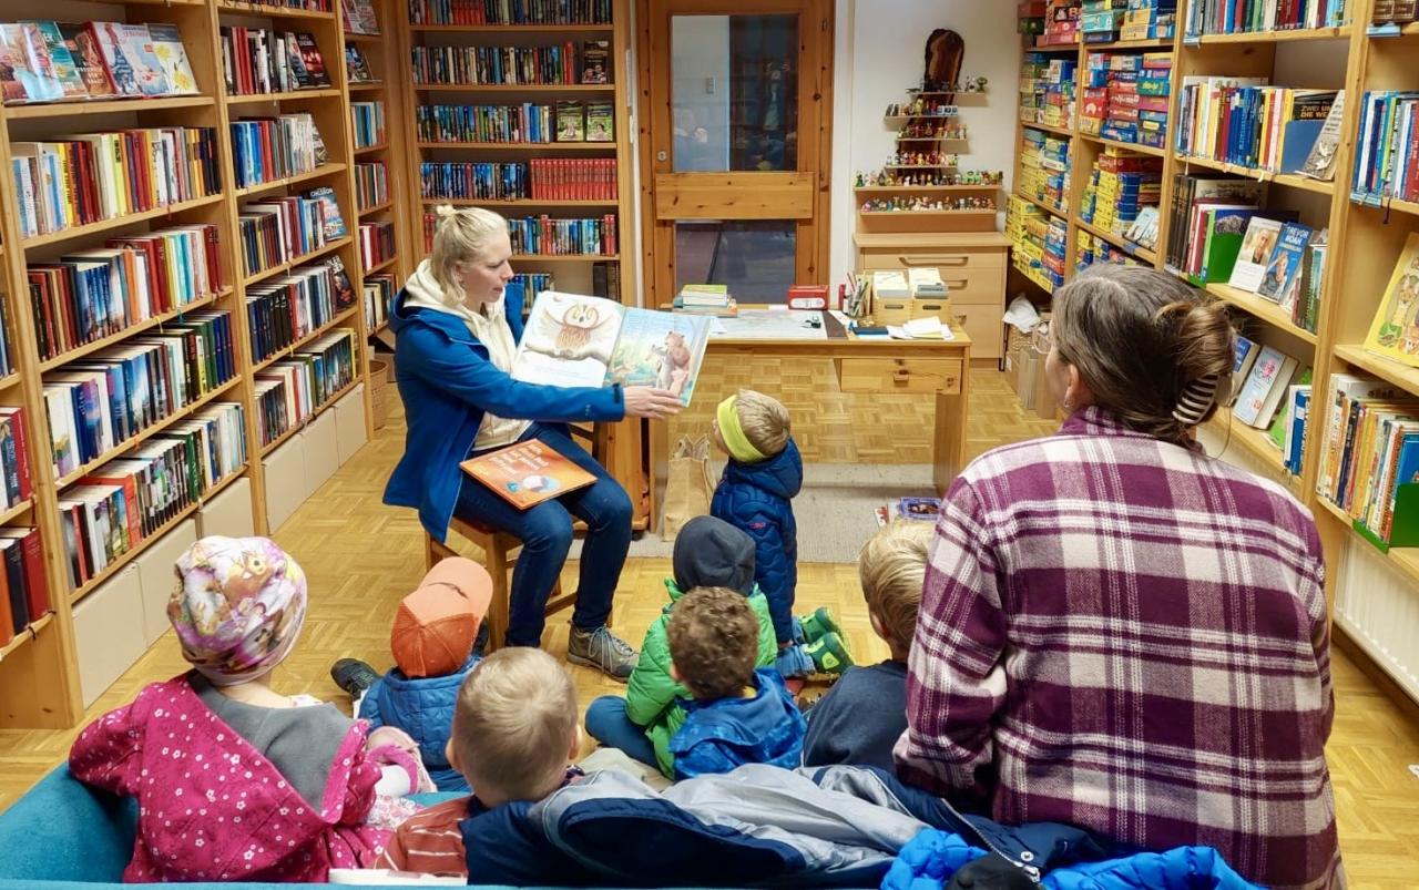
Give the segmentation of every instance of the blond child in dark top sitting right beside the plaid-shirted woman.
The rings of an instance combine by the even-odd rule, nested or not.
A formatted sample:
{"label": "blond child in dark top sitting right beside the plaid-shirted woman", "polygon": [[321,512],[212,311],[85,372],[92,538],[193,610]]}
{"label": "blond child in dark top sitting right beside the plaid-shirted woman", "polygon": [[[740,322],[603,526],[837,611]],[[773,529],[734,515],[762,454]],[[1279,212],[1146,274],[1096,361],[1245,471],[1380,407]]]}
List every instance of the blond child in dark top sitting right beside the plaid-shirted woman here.
{"label": "blond child in dark top sitting right beside the plaid-shirted woman", "polygon": [[805,767],[853,764],[894,769],[891,749],[907,731],[907,654],[917,629],[927,551],[935,525],[900,520],[880,528],[857,556],[873,630],[891,657],[843,674],[807,713]]}

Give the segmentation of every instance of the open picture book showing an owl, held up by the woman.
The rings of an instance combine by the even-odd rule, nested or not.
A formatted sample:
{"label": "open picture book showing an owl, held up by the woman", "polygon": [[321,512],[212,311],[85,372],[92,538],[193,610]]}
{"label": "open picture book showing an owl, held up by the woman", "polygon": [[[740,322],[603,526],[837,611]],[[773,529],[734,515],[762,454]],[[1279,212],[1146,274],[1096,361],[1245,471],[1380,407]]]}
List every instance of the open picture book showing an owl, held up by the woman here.
{"label": "open picture book showing an owl, held up by the woman", "polygon": [[658,386],[688,406],[711,321],[542,291],[512,359],[512,378],[548,386]]}

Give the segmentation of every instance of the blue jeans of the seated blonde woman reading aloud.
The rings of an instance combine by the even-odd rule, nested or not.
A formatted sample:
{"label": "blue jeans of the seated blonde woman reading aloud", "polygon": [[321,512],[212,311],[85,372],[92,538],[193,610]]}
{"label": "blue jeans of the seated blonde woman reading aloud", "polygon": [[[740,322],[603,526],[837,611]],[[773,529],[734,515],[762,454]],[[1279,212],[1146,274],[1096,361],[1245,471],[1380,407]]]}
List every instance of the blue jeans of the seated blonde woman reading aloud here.
{"label": "blue jeans of the seated blonde woman reading aloud", "polygon": [[568,551],[572,549],[572,517],[586,522],[572,626],[596,630],[606,623],[612,615],[612,596],[616,593],[622,566],[626,565],[626,551],[630,549],[631,507],[626,490],[586,449],[572,440],[565,426],[534,423],[521,440],[528,439],[539,439],[556,449],[596,476],[596,483],[542,501],[536,507],[518,510],[473,478],[463,480],[454,514],[460,520],[485,522],[522,541],[522,554],[512,569],[508,592],[505,646],[542,644],[546,599],[562,575]]}

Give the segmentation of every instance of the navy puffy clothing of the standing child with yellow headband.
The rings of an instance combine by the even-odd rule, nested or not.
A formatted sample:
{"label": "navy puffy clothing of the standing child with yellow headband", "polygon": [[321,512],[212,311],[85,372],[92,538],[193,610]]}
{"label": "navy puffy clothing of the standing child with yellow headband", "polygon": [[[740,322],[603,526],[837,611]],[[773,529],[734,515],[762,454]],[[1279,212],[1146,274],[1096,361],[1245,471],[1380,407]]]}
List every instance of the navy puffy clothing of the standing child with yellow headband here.
{"label": "navy puffy clothing of the standing child with yellow headband", "polygon": [[803,487],[803,458],[793,439],[773,457],[724,467],[710,515],[753,538],[753,581],[769,600],[779,643],[793,642],[793,590],[797,588],[797,524],[793,504]]}

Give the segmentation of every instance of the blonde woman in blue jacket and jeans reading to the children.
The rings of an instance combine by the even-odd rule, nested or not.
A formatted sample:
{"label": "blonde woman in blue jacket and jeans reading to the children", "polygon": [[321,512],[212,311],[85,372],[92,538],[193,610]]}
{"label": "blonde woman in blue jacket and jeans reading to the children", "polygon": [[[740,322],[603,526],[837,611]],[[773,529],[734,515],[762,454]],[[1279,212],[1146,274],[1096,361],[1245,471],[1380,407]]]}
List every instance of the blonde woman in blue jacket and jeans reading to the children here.
{"label": "blonde woman in blue jacket and jeans reading to the children", "polygon": [[[394,363],[407,410],[404,456],[385,502],[414,507],[424,529],[443,541],[453,515],[517,535],[508,646],[539,646],[543,606],[572,545],[572,520],[586,522],[568,660],[626,680],[636,650],[606,626],[630,546],[626,491],[572,440],[566,423],[664,419],[680,400],[651,386],[563,388],[509,376],[522,338],[519,288],[508,260],[508,224],[482,209],[438,209],[433,253],[394,300]],[[596,483],[518,510],[467,477],[460,463],[529,439],[562,454]]]}

